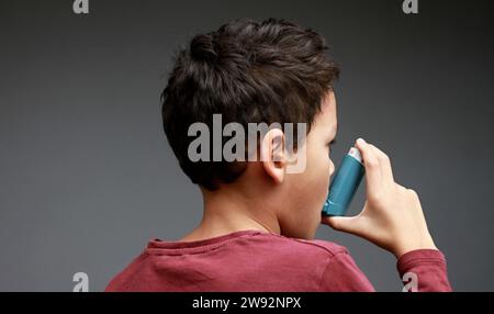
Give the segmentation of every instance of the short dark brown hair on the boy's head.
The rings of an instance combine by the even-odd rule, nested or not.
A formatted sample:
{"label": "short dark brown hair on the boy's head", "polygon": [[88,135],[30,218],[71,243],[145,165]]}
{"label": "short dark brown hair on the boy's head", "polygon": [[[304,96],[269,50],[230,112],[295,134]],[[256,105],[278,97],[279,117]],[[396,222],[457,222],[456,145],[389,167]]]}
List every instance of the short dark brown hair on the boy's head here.
{"label": "short dark brown hair on the boy's head", "polygon": [[238,161],[191,161],[192,123],[212,130],[212,116],[220,113],[224,124],[306,123],[308,133],[339,75],[327,51],[324,37],[313,30],[276,19],[235,20],[193,36],[176,55],[161,93],[165,133],[192,182],[215,190],[247,167]]}

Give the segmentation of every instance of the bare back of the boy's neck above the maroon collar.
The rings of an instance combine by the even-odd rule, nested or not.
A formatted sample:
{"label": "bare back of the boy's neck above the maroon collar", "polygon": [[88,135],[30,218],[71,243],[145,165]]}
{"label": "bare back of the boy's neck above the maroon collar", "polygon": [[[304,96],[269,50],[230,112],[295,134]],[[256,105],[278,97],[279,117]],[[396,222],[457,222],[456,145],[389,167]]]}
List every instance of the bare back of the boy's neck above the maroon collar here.
{"label": "bare back of the boy's neck above the maroon collar", "polygon": [[252,201],[254,198],[234,191],[204,191],[204,213],[201,223],[180,240],[200,240],[233,232],[255,229],[280,234],[280,224],[273,211]]}

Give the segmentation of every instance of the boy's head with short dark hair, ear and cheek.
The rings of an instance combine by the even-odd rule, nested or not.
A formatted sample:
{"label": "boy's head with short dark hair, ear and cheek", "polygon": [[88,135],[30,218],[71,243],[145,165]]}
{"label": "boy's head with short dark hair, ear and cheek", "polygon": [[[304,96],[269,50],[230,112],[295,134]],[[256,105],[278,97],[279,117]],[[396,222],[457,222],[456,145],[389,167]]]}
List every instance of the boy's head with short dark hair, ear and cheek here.
{"label": "boy's head with short dark hair, ear and cheek", "polygon": [[[165,132],[180,167],[201,187],[205,199],[220,193],[237,195],[251,202],[252,211],[276,216],[282,234],[312,238],[334,171],[329,146],[336,136],[333,82],[338,72],[324,38],[287,21],[237,20],[194,36],[178,53],[162,92]],[[211,158],[193,160],[190,144],[197,136],[189,135],[198,134],[189,127],[198,122],[206,125],[211,130],[206,138],[213,144],[217,135],[213,114],[221,114],[223,126],[235,122],[245,133],[249,123],[279,123],[281,127],[255,136],[254,153],[245,143],[246,159],[254,154],[260,157],[256,161],[213,161],[212,146],[199,148]],[[295,124],[295,131],[297,123],[304,123],[306,137],[295,135],[289,143],[285,123]],[[234,135],[223,136],[221,144]],[[279,149],[280,144],[305,152],[303,171],[287,171],[290,152]]]}

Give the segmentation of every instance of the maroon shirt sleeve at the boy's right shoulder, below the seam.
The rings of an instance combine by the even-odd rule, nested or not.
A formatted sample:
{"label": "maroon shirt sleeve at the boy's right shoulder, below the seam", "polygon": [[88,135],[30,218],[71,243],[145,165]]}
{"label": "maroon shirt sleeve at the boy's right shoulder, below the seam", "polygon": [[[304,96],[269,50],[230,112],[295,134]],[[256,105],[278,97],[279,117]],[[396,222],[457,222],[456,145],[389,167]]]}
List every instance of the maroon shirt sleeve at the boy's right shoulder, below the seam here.
{"label": "maroon shirt sleeve at the boy's right shoulder, below the seam", "polygon": [[374,288],[348,251],[341,251],[329,259],[321,281],[321,291],[371,292]]}

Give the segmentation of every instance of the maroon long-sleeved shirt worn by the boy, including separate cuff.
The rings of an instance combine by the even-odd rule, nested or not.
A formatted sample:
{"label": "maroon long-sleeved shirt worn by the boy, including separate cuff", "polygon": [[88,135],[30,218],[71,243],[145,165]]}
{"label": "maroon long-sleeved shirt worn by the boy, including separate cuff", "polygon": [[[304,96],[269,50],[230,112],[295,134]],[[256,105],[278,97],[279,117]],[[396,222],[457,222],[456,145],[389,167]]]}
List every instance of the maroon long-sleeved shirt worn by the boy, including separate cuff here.
{"label": "maroon long-sleeved shirt worn by the boy, including separate cuff", "polygon": [[[397,261],[418,291],[450,291],[439,250]],[[345,247],[242,231],[197,242],[150,240],[105,291],[374,291]]]}

